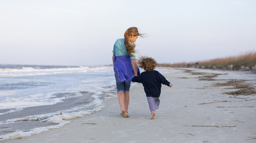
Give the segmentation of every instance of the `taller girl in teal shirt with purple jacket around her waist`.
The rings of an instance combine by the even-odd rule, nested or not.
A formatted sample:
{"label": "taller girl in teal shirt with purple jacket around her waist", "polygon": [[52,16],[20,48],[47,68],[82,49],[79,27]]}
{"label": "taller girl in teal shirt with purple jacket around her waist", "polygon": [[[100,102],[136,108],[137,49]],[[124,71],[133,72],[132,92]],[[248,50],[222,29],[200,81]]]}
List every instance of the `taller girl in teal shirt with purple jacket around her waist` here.
{"label": "taller girl in teal shirt with purple jacket around her waist", "polygon": [[128,105],[130,85],[134,76],[138,75],[139,67],[135,57],[135,42],[143,34],[137,27],[130,27],[124,33],[124,38],[117,39],[113,48],[113,66],[117,83],[117,97],[123,118],[129,117]]}

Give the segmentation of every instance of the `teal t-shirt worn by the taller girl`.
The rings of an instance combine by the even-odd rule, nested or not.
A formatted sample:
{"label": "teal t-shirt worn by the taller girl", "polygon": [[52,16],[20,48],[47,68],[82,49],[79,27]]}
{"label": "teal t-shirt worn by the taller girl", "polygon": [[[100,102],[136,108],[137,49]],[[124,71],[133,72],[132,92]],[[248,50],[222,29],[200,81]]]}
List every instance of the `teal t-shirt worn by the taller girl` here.
{"label": "teal t-shirt worn by the taller girl", "polygon": [[[123,39],[116,40],[112,52],[116,53],[116,56],[129,56],[128,52],[126,51]],[[131,57],[131,60],[136,59],[135,53],[131,53],[131,54],[134,56],[134,57]]]}

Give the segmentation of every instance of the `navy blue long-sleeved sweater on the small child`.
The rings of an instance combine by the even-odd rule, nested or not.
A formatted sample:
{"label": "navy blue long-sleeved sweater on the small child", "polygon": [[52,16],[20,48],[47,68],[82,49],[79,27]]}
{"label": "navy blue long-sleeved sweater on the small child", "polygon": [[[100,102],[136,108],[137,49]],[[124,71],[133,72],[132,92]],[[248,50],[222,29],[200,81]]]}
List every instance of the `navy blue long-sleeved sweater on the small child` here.
{"label": "navy blue long-sleeved sweater on the small child", "polygon": [[147,97],[160,97],[161,84],[170,86],[170,82],[158,71],[144,71],[132,81],[142,83]]}

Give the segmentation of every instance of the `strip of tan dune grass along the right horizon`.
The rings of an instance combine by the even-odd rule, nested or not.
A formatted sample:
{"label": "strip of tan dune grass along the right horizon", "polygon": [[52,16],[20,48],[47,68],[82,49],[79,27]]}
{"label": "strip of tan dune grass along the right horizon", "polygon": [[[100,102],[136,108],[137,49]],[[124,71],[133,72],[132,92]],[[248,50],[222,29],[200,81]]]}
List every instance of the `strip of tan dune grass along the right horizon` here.
{"label": "strip of tan dune grass along the right horizon", "polygon": [[237,56],[228,56],[197,62],[164,63],[158,64],[161,67],[193,67],[200,69],[222,69],[222,70],[256,70],[256,51],[250,51]]}

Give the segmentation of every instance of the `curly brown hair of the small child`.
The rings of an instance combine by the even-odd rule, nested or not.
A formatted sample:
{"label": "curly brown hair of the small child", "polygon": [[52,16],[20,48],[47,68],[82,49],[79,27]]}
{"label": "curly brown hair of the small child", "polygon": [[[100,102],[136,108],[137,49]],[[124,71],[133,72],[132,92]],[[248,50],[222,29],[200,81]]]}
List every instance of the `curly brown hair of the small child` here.
{"label": "curly brown hair of the small child", "polygon": [[141,56],[137,60],[137,63],[145,71],[153,71],[157,67],[157,61],[152,57]]}

